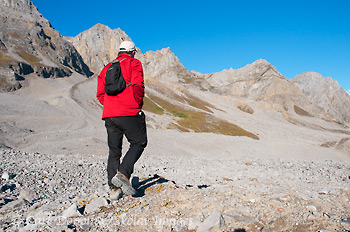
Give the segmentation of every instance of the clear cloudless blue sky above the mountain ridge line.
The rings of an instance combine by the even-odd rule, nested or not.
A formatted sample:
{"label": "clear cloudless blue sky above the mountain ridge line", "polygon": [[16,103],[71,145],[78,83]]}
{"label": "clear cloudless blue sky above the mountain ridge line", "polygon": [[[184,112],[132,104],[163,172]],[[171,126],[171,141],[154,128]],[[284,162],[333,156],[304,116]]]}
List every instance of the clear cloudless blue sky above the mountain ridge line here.
{"label": "clear cloudless blue sky above the mountain ridge line", "polygon": [[189,70],[241,68],[263,58],[287,78],[305,71],[350,90],[350,1],[33,0],[64,36],[97,23],[143,53],[170,47]]}

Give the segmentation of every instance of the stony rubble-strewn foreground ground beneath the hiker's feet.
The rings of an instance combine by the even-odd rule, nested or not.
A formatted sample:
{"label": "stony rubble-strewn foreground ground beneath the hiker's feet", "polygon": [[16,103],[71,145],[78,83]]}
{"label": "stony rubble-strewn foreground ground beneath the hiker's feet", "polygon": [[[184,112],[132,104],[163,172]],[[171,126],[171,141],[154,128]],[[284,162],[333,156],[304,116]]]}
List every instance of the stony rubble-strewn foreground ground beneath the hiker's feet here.
{"label": "stony rubble-strewn foreground ground beneath the hiker's feet", "polygon": [[111,201],[105,156],[0,151],[3,231],[349,231],[349,164],[143,156]]}

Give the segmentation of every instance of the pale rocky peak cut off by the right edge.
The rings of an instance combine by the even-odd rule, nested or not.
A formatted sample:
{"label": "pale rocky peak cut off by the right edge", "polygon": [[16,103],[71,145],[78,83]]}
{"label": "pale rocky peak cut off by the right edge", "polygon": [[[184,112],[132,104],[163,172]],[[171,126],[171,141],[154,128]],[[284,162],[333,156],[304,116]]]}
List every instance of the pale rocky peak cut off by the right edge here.
{"label": "pale rocky peak cut off by the right edge", "polygon": [[323,108],[336,121],[350,122],[350,96],[336,80],[325,78],[319,73],[304,72],[295,76],[292,82],[311,102]]}

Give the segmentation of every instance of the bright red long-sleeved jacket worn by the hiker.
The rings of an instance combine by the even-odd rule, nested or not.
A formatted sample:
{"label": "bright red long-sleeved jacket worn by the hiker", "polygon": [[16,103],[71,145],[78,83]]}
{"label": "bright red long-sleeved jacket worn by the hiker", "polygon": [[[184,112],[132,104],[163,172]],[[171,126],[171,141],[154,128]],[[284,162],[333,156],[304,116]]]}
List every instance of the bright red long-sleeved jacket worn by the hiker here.
{"label": "bright red long-sleeved jacket worn by the hiker", "polygon": [[121,54],[118,60],[123,60],[120,67],[126,83],[131,85],[118,94],[110,96],[105,93],[105,76],[111,63],[107,64],[97,78],[96,97],[103,105],[102,119],[118,116],[137,115],[143,105],[143,96],[145,94],[145,85],[143,80],[142,64],[139,60],[131,58],[127,54]]}

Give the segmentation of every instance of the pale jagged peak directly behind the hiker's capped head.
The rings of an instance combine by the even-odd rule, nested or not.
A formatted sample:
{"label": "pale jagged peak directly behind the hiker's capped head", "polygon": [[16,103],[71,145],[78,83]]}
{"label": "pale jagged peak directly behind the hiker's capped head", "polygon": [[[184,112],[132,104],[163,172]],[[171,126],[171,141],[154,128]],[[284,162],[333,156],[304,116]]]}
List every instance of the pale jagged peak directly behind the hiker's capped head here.
{"label": "pale jagged peak directly behind the hiker's capped head", "polygon": [[76,37],[66,37],[66,39],[75,46],[86,64],[95,73],[99,73],[108,62],[117,56],[122,41],[131,41],[120,28],[112,30],[99,23]]}

